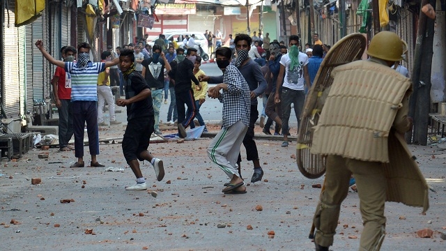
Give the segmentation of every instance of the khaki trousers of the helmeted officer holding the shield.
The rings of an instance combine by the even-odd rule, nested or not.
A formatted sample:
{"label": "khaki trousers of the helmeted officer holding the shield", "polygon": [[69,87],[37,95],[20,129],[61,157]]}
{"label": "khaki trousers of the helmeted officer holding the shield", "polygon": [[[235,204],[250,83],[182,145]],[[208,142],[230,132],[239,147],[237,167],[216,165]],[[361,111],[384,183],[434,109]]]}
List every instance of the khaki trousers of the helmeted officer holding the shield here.
{"label": "khaki trousers of the helmeted officer holding the shield", "polygon": [[385,236],[384,204],[387,189],[383,164],[328,155],[326,168],[325,190],[321,192],[314,214],[314,226],[317,229],[314,241],[324,247],[333,244],[341,202],[348,194],[348,183],[353,174],[364,225],[358,250],[380,250]]}

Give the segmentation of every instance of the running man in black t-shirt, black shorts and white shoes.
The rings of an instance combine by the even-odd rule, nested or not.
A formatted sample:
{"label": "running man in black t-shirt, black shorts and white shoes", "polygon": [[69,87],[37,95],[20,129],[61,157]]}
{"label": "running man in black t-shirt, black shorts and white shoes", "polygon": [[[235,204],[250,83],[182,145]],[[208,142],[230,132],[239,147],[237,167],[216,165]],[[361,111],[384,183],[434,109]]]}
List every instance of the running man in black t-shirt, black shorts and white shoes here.
{"label": "running man in black t-shirt, black shorts and white shoes", "polygon": [[116,104],[127,107],[127,128],[123,137],[124,158],[132,169],[137,183],[125,190],[146,190],[146,180],[139,168],[139,161],[148,160],[155,169],[157,181],[164,178],[162,160],[153,157],[147,151],[154,130],[153,105],[151,90],[144,77],[135,70],[132,50],[122,50],[119,55],[119,65],[124,75],[125,99],[116,100]]}

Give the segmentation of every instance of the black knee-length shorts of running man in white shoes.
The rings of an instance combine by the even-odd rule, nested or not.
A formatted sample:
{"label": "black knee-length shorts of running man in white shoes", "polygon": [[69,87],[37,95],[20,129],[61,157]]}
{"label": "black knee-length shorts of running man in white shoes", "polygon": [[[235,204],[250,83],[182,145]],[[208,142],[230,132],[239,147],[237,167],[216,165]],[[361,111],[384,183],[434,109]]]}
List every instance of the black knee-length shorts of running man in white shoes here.
{"label": "black knee-length shorts of running man in white shoes", "polygon": [[153,116],[128,121],[123,138],[123,153],[127,162],[136,159],[144,160],[139,154],[147,150],[154,125],[155,119]]}

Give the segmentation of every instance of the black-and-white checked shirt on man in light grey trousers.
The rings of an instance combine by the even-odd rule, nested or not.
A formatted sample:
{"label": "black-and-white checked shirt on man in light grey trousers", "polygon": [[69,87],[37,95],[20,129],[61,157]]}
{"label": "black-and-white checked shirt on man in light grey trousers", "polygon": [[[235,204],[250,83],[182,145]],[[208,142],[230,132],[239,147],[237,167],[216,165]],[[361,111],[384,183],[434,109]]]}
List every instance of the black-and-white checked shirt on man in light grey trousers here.
{"label": "black-and-white checked shirt on man in light grey trousers", "polygon": [[233,63],[224,70],[223,83],[228,84],[228,91],[223,90],[218,98],[223,103],[223,128],[227,129],[239,120],[249,126],[249,86]]}

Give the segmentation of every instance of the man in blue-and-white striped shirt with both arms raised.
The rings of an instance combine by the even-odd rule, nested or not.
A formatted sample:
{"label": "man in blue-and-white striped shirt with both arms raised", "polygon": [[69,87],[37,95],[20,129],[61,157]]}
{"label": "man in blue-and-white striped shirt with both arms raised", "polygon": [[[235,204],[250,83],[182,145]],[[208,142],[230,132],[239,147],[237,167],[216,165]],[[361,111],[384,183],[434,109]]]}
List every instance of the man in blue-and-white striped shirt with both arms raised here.
{"label": "man in blue-and-white striped shirt with both arms raised", "polygon": [[105,167],[96,160],[99,154],[98,135],[98,91],[96,83],[98,75],[105,68],[119,63],[116,58],[105,63],[92,63],[90,59],[90,45],[80,43],[77,47],[77,62],[63,62],[54,59],[44,48],[43,41],[37,40],[36,47],[42,52],[45,59],[54,66],[62,67],[71,74],[71,102],[73,114],[73,129],[75,132],[75,156],[77,162],[70,167],[84,167],[84,124],[86,123],[89,135],[89,148],[91,154],[91,167]]}

